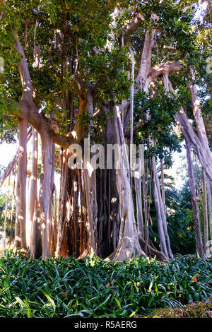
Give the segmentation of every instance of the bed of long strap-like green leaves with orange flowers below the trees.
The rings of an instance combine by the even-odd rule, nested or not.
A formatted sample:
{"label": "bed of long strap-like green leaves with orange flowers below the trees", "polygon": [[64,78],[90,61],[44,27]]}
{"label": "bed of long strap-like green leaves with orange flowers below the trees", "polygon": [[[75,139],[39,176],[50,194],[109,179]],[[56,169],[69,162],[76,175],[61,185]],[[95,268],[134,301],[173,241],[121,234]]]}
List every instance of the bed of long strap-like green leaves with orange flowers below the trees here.
{"label": "bed of long strap-like green leaves with orange flowers below the trees", "polygon": [[168,263],[89,256],[31,261],[6,251],[0,259],[0,316],[145,316],[155,308],[206,300],[212,290],[211,263],[192,256]]}

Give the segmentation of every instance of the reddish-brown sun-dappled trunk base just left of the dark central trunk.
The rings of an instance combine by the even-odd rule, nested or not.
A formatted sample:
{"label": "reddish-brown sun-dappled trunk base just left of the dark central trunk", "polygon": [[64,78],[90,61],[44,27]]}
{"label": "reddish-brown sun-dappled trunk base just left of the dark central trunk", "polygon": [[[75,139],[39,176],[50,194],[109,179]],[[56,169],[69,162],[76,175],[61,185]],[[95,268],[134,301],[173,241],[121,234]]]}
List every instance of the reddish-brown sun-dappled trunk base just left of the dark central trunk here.
{"label": "reddish-brown sun-dappled trunk base just left of the dark central trunk", "polygon": [[69,154],[61,153],[61,191],[57,256],[91,254],[85,184],[82,170],[68,167]]}

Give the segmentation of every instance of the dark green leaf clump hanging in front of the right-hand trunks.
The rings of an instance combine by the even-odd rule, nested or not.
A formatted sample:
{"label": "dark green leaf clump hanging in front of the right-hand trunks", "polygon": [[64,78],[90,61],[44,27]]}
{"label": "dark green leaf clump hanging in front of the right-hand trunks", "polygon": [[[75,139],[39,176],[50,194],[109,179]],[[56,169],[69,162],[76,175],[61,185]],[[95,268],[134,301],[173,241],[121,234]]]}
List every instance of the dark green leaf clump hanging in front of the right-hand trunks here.
{"label": "dark green leaf clump hanging in front of the right-hand trunks", "polygon": [[174,100],[158,85],[155,96],[141,91],[135,98],[135,122],[141,120],[137,143],[147,146],[146,157],[158,155],[164,158],[172,151],[180,151],[180,138],[173,129],[173,115],[179,110],[178,100]]}

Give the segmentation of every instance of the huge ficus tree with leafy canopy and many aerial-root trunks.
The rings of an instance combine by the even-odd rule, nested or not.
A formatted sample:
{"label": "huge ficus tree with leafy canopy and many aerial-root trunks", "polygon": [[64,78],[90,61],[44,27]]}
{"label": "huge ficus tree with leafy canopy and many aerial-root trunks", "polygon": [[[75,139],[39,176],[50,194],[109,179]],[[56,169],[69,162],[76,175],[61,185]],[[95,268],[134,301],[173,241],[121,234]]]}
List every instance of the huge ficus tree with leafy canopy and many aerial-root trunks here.
{"label": "huge ficus tree with leafy canopy and many aerial-root trunks", "polygon": [[[194,29],[195,5],[196,1],[165,0],[1,1],[0,43],[5,63],[0,76],[1,117],[15,117],[18,122],[16,247],[44,259],[55,253],[82,256],[92,252],[120,261],[132,255],[172,257],[156,157],[160,155],[162,160],[167,150],[161,133],[170,137],[167,146],[175,149],[174,121],[182,130],[188,151],[192,147],[198,155],[208,178],[208,196],[212,197],[212,157],[200,105],[196,108],[199,97],[193,66],[199,43]],[[209,34],[205,47],[210,45],[208,39]],[[186,89],[192,95],[189,102],[196,128],[201,125],[197,133],[183,104],[182,80],[187,81]],[[155,108],[158,94],[163,105],[161,117],[160,109]],[[139,105],[136,114],[134,97]],[[170,132],[161,129],[157,136],[151,121],[160,128],[164,123]],[[30,199],[27,220],[29,125],[41,138],[42,170],[39,196]],[[153,150],[147,165],[160,251],[151,246],[148,237],[147,169],[142,179],[143,211],[141,178],[132,185],[134,180],[123,167],[126,156],[121,151],[117,170],[69,167],[69,146],[78,143],[83,147],[84,138],[105,148],[107,144],[129,144],[133,139],[148,142]],[[36,141],[35,133],[33,139]],[[52,216],[55,144],[60,147],[61,160],[58,227]],[[35,159],[33,179],[36,165]],[[192,181],[191,176],[191,188]],[[32,188],[33,195],[35,182]],[[29,243],[26,223],[31,229]],[[196,249],[204,254],[198,218],[195,225]]]}

